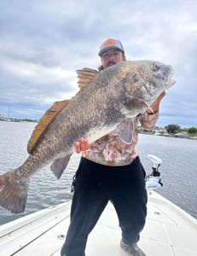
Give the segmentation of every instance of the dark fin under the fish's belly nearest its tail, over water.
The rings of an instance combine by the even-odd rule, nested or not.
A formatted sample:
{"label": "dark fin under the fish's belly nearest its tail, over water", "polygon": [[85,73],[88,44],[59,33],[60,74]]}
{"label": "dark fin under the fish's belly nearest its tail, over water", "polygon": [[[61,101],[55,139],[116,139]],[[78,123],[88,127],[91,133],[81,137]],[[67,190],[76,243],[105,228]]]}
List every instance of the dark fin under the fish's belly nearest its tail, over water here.
{"label": "dark fin under the fish's belly nearest its tail, over water", "polygon": [[69,154],[67,157],[60,158],[58,160],[55,160],[53,164],[50,166],[50,170],[54,172],[55,177],[60,178],[64,170],[67,168],[67,164],[70,160],[71,154]]}

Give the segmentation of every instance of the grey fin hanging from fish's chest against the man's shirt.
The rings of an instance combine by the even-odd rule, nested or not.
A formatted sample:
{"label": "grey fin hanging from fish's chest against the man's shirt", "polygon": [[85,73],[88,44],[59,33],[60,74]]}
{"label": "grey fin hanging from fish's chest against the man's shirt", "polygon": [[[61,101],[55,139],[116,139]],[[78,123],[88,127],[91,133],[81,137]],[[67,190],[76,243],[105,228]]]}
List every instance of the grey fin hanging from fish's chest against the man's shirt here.
{"label": "grey fin hanging from fish's chest against the man's shirt", "polygon": [[120,123],[115,130],[115,133],[118,134],[121,141],[127,144],[130,144],[132,142],[134,132],[135,122],[133,121],[133,119],[126,119],[125,121]]}

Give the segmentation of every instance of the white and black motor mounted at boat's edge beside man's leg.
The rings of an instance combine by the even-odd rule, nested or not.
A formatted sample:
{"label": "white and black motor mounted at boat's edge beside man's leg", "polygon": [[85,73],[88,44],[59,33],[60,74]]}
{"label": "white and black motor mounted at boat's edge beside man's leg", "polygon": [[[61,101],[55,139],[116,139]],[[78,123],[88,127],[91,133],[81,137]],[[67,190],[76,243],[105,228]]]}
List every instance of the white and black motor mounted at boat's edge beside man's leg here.
{"label": "white and black motor mounted at boat's edge beside man's leg", "polygon": [[160,178],[160,172],[159,172],[159,166],[162,163],[162,160],[159,159],[158,156],[154,154],[148,154],[148,158],[152,161],[153,166],[151,174],[149,174],[146,177],[146,188],[148,191],[159,189],[161,186],[163,186],[163,183],[161,183]]}

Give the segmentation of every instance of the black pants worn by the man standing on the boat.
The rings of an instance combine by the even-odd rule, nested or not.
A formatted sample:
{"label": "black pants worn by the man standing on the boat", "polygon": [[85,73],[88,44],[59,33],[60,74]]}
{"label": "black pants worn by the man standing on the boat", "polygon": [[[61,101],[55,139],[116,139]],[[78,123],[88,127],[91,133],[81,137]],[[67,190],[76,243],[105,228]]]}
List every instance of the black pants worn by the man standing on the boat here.
{"label": "black pants worn by the man standing on the boat", "polygon": [[129,166],[102,166],[82,158],[61,256],[85,255],[87,238],[108,201],[112,201],[118,214],[123,241],[127,244],[138,241],[147,215],[144,177],[139,157]]}

